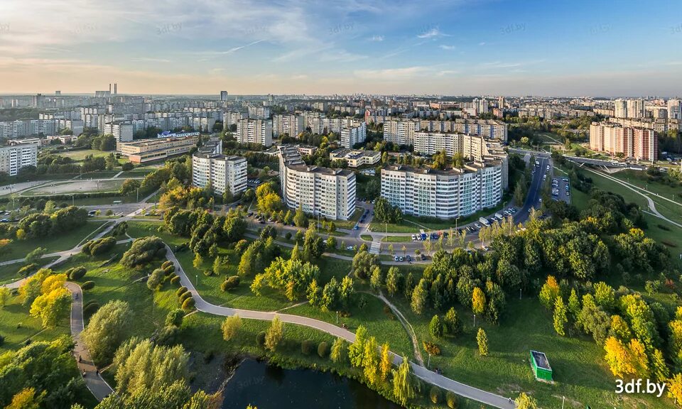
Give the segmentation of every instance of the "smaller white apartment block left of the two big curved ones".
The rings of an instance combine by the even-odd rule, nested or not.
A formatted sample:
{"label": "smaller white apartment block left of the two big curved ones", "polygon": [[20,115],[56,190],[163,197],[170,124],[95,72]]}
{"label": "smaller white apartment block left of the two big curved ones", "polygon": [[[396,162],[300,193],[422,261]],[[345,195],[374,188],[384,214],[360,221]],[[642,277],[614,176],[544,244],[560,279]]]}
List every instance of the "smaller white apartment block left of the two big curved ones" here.
{"label": "smaller white apartment block left of the two big curved ones", "polygon": [[232,195],[247,190],[247,160],[241,156],[195,153],[192,156],[192,185],[206,187],[209,182],[216,193],[229,190]]}

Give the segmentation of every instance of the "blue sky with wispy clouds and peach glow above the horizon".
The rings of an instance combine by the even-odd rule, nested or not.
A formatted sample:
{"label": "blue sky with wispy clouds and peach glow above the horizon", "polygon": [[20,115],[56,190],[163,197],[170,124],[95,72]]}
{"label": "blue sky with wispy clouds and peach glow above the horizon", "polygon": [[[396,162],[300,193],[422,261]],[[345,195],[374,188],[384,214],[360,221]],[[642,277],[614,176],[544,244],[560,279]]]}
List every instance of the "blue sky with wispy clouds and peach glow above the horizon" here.
{"label": "blue sky with wispy clouds and peach glow above the horizon", "polygon": [[682,95],[679,0],[0,0],[0,94]]}

